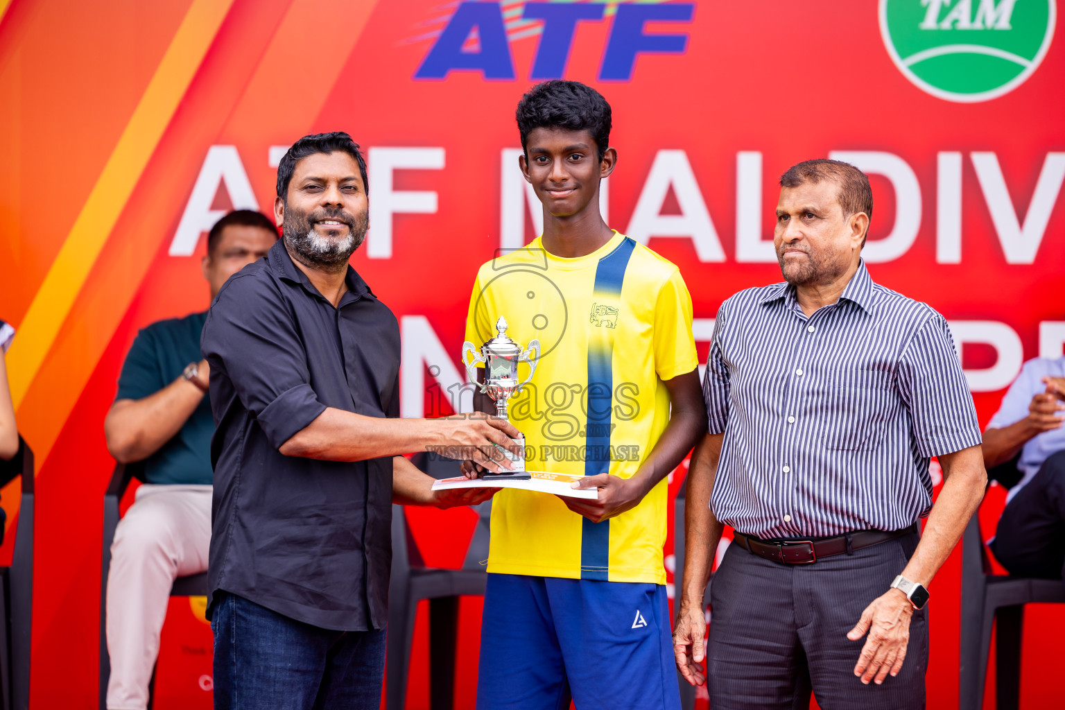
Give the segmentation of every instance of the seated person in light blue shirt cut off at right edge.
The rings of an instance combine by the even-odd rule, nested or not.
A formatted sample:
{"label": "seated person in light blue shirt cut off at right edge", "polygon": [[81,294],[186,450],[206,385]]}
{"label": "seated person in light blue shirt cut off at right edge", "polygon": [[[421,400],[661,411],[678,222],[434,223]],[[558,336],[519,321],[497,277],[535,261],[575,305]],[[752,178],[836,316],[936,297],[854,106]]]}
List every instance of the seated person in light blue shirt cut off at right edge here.
{"label": "seated person in light blue shirt cut off at right edge", "polygon": [[990,544],[1010,574],[1058,579],[1065,566],[1065,357],[1029,360],[984,432],[984,465],[1017,458]]}

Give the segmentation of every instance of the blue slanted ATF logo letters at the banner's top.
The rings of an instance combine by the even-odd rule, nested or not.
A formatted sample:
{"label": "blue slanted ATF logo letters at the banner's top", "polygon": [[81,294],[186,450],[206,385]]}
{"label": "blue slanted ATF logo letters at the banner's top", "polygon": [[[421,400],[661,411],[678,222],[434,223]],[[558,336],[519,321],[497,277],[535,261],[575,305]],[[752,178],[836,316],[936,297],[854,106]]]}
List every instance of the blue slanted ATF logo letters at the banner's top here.
{"label": "blue slanted ATF logo letters at the banner's top", "polygon": [[[649,34],[646,22],[690,22],[693,2],[663,4],[620,3],[607,40],[600,81],[629,81],[639,54],[683,54],[685,34]],[[508,12],[508,14],[510,14]],[[561,79],[580,21],[603,21],[604,3],[526,2],[522,15],[509,24],[542,22],[542,36],[529,73],[531,80]],[[508,22],[499,2],[462,2],[426,54],[414,79],[445,79],[453,70],[480,71],[485,79],[513,81]],[[527,36],[527,34],[525,35]],[[471,39],[477,43],[471,47]]]}

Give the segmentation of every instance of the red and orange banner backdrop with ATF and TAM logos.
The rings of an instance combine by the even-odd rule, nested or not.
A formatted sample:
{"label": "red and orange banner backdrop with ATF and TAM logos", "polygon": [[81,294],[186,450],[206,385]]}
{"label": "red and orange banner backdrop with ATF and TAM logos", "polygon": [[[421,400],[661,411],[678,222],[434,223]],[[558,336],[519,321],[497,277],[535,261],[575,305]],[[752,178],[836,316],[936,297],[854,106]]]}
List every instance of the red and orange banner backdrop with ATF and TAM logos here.
{"label": "red and orange banner backdrop with ATF and TAM logos", "polygon": [[[461,380],[477,265],[535,234],[513,110],[553,77],[613,106],[604,212],[681,265],[702,356],[724,298],[780,280],[776,177],[825,155],[872,176],[870,271],[951,321],[982,423],[1023,360],[1062,354],[1052,1],[0,7],[0,317],[18,328],[7,365],[39,477],[34,708],[96,703],[114,465],[102,420],[126,350],[138,328],[207,308],[202,232],[230,207],[268,211],[274,166],[306,133],[345,130],[367,151],[371,232],[354,264],[400,318],[406,416],[436,413],[432,394]],[[2,492],[9,526],[16,488]],[[1002,498],[993,488],[986,535]],[[470,511],[411,522],[430,564],[461,562]],[[955,554],[931,590],[930,707],[956,706],[958,576]],[[473,705],[479,610],[463,602],[460,707]],[[171,601],[158,708],[209,707],[201,613]],[[1050,707],[1054,679],[1034,661],[1060,653],[1062,612],[1026,618],[1022,703]],[[425,643],[420,627],[410,707],[427,706]]]}

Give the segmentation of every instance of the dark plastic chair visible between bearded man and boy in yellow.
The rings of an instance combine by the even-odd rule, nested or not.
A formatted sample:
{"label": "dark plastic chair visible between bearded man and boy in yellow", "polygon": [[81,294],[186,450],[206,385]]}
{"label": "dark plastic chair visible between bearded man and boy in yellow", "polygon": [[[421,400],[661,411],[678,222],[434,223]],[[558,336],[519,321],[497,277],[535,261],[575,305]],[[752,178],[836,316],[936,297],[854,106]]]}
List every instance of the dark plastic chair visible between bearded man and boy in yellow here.
{"label": "dark plastic chair visible between bearded man and boy in yellow", "polygon": [[[417,455],[414,465],[433,478],[461,475],[459,462]],[[426,567],[407,526],[403,506],[392,506],[392,579],[389,584],[386,707],[403,710],[407,700],[410,646],[417,602],[429,600],[429,707],[450,710],[455,703],[455,657],[460,596],[481,596],[488,582],[489,519],[492,501],[479,514],[461,569]]]}

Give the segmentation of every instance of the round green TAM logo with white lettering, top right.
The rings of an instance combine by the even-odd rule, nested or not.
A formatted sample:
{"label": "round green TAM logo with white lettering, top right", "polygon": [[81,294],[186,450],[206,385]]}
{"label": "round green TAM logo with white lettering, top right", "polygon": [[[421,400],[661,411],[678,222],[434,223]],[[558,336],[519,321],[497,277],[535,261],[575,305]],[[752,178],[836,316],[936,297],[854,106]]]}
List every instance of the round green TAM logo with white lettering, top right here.
{"label": "round green TAM logo with white lettering, top right", "polygon": [[1039,66],[1054,34],[1054,0],[880,0],[895,66],[932,96],[987,101]]}

